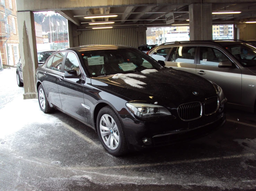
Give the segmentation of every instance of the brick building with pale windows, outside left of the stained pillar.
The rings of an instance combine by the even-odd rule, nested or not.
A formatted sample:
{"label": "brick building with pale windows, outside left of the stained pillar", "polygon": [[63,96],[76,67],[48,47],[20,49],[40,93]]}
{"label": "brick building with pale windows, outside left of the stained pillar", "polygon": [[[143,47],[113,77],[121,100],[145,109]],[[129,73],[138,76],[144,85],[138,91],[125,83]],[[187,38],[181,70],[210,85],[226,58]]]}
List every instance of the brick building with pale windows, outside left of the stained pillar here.
{"label": "brick building with pale windows, outside left of the stained pillar", "polygon": [[19,33],[15,0],[0,0],[0,61],[15,66],[19,61]]}

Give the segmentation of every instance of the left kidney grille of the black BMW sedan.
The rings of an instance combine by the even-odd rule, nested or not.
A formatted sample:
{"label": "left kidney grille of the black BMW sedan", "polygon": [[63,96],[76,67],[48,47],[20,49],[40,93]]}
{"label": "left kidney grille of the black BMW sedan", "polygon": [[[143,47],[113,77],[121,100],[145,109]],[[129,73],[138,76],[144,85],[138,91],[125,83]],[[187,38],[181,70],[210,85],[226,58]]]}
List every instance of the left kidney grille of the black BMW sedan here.
{"label": "left kidney grille of the black BMW sedan", "polygon": [[191,102],[179,105],[178,109],[179,118],[183,121],[190,121],[198,119],[202,116],[202,103]]}

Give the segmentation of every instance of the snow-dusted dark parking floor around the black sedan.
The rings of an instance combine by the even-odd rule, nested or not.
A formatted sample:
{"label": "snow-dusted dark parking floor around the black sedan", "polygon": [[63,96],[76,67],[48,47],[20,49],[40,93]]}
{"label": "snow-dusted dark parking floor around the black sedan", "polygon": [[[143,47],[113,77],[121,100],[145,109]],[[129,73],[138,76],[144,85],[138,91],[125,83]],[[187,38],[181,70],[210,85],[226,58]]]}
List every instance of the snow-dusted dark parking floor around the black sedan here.
{"label": "snow-dusted dark parking floor around the black sedan", "polygon": [[256,190],[255,114],[230,110],[207,137],[118,158],[22,93],[14,69],[0,72],[0,190]]}

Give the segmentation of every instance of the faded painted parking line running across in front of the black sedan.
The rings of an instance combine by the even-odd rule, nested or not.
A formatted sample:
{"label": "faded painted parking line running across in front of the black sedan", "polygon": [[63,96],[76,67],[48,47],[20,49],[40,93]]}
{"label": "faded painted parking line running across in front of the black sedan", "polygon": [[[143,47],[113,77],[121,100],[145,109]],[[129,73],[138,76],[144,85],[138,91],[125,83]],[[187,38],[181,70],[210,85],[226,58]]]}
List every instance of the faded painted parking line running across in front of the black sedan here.
{"label": "faded painted parking line running across in front of the black sedan", "polygon": [[203,159],[191,159],[191,160],[180,160],[180,161],[172,161],[172,162],[162,162],[162,163],[151,163],[151,164],[130,164],[130,165],[119,165],[119,166],[107,166],[107,167],[76,167],[72,169],[76,170],[105,170],[105,169],[125,169],[125,168],[145,168],[145,167],[155,167],[160,165],[174,165],[174,164],[182,164],[182,163],[193,163],[193,162],[207,162],[213,160],[223,160],[223,159],[236,159],[241,157],[252,157],[255,156],[256,153],[246,153],[246,154],[236,154],[224,157],[213,157],[213,158],[203,158]]}

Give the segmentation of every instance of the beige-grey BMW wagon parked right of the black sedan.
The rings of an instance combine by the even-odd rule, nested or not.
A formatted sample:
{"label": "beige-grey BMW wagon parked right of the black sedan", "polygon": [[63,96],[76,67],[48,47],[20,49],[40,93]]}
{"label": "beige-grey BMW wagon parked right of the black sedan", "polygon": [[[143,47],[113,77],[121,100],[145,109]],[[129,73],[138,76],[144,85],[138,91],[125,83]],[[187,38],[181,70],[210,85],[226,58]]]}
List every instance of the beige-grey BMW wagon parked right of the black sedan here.
{"label": "beige-grey BMW wagon parked right of the black sedan", "polygon": [[202,76],[220,86],[233,108],[256,108],[256,48],[247,41],[181,41],[149,52],[172,67]]}

